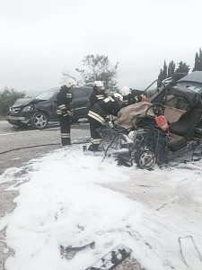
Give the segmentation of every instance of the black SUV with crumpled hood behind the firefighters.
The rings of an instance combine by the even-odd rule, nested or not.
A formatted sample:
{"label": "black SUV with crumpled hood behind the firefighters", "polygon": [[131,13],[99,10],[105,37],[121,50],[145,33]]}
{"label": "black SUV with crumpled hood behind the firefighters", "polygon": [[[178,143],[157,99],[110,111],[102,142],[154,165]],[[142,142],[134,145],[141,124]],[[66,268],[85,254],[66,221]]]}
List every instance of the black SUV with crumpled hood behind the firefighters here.
{"label": "black SUV with crumpled hood behind the firefighters", "polygon": [[[31,124],[32,128],[38,130],[46,128],[48,121],[58,121],[56,113],[58,91],[59,88],[52,88],[34,98],[16,100],[10,107],[7,121],[21,127]],[[72,121],[87,117],[90,94],[92,94],[90,86],[72,87]]]}

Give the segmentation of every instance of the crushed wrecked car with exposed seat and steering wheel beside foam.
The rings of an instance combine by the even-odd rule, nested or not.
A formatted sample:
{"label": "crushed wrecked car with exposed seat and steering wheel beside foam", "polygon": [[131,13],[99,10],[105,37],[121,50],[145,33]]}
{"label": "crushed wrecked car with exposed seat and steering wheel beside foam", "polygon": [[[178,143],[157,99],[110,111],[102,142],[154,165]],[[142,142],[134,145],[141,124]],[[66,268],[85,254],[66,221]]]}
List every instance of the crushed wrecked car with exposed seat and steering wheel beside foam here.
{"label": "crushed wrecked car with exposed seat and steering wheel beside foam", "polygon": [[196,77],[194,72],[178,81],[172,78],[162,82],[150,102],[120,110],[115,125],[122,130],[115,136],[122,138],[126,150],[116,152],[119,164],[150,169],[202,157],[202,72],[197,73],[198,82],[188,81]]}

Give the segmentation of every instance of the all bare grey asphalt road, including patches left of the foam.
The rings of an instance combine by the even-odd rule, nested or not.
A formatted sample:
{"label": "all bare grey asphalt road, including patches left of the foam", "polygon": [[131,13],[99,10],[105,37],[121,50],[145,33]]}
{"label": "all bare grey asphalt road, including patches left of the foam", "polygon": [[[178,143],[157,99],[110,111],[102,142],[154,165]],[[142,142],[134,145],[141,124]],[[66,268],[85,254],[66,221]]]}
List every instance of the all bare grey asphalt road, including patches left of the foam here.
{"label": "all bare grey asphalt road, including patches left of the foam", "polygon": [[[73,143],[89,141],[89,124],[72,125],[71,134]],[[41,157],[57,148],[62,148],[58,124],[49,125],[46,130],[31,130],[13,127],[7,121],[0,121],[0,175],[7,168],[23,166],[32,158]],[[7,190],[11,184],[13,183],[0,184],[0,219],[12,212],[16,206],[13,199],[18,193]],[[13,256],[13,250],[7,247],[4,241],[5,230],[6,228],[0,230],[0,270],[4,270],[7,257]]]}

